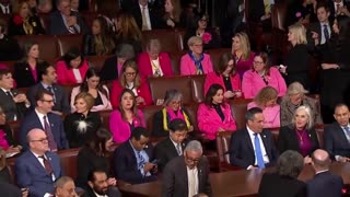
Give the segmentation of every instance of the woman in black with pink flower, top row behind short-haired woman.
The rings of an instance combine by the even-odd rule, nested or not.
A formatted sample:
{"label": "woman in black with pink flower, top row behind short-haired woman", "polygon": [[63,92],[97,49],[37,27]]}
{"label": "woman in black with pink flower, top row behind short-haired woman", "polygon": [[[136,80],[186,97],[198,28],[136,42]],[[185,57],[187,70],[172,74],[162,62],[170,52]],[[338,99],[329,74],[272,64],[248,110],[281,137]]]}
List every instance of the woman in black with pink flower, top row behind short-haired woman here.
{"label": "woman in black with pink flower, top row behind short-haired woman", "polygon": [[195,26],[187,27],[186,34],[184,36],[184,43],[187,43],[190,37],[197,36],[202,39],[205,49],[219,48],[220,47],[219,35],[214,30],[211,31],[207,28],[209,16],[202,12],[195,15],[194,21],[195,21]]}

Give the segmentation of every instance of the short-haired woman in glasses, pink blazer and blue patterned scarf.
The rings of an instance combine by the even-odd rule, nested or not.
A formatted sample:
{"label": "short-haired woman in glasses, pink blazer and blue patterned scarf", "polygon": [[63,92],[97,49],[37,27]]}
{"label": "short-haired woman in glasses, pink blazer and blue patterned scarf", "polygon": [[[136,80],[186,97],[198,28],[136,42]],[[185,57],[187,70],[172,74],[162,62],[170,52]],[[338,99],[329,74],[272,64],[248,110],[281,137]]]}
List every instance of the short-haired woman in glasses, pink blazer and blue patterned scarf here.
{"label": "short-haired woman in glasses, pink blazer and blue patterned scarf", "polygon": [[192,36],[187,42],[190,51],[182,57],[180,74],[207,74],[212,72],[210,56],[203,53],[203,42],[198,36]]}

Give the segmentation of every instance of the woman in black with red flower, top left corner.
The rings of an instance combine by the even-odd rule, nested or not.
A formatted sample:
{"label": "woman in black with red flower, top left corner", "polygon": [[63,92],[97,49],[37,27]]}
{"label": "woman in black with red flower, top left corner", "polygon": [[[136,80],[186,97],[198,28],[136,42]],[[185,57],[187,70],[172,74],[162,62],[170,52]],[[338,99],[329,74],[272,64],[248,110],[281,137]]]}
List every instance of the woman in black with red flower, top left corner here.
{"label": "woman in black with red flower, top left corner", "polygon": [[13,13],[9,21],[9,35],[45,34],[38,16],[31,12],[26,0],[13,1]]}

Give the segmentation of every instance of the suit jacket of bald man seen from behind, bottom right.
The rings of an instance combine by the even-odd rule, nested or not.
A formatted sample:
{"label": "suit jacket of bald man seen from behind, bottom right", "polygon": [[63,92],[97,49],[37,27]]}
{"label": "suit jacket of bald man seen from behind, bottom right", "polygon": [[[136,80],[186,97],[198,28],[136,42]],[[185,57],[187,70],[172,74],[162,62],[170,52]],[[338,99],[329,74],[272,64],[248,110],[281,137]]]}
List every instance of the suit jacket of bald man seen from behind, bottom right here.
{"label": "suit jacket of bald man seen from behind, bottom right", "polygon": [[313,179],[307,183],[307,196],[331,196],[340,197],[343,183],[340,176],[330,174],[329,171],[316,174]]}

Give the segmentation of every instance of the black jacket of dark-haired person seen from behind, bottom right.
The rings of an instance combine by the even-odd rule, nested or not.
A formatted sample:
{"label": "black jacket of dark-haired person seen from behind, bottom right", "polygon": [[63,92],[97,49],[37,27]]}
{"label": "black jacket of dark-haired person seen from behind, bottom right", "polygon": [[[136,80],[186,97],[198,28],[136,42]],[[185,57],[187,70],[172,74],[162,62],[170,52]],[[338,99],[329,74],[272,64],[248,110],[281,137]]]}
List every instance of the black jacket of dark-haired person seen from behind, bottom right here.
{"label": "black jacket of dark-haired person seen from behind, bottom right", "polygon": [[262,175],[259,197],[306,197],[306,184],[296,178],[280,176],[277,173]]}

